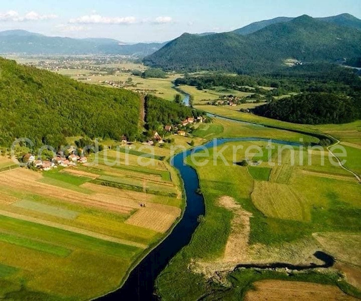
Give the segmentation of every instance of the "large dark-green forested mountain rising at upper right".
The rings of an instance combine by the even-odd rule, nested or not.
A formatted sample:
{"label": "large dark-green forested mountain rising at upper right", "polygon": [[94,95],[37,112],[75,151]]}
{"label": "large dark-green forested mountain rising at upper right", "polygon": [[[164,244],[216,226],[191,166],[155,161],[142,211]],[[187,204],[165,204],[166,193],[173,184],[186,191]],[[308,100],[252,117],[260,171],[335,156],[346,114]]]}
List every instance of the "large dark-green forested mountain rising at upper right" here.
{"label": "large dark-green forested mountain rising at upper right", "polygon": [[184,71],[267,72],[284,59],[303,62],[355,60],[361,55],[361,31],[301,16],[249,35],[183,34],[144,59],[145,64]]}

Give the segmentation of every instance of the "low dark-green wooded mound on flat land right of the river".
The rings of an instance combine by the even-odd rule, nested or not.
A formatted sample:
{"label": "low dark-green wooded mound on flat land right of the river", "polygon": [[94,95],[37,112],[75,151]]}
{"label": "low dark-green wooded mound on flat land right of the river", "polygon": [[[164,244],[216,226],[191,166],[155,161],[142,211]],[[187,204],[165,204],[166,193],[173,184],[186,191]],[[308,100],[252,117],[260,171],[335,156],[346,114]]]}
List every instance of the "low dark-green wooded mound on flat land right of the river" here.
{"label": "low dark-green wooded mound on flat land right of the river", "polygon": [[361,117],[360,100],[330,93],[303,93],[256,107],[253,113],[293,123],[348,123]]}

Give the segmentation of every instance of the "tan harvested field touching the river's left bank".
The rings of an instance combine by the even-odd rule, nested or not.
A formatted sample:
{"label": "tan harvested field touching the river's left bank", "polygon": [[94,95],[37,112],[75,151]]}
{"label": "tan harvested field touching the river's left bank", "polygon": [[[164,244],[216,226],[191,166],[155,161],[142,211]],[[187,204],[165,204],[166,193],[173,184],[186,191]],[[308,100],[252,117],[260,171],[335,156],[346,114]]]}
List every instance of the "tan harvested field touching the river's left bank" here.
{"label": "tan harvested field touching the river's left bank", "polygon": [[181,209],[177,207],[152,204],[140,208],[125,223],[165,233],[180,215]]}

